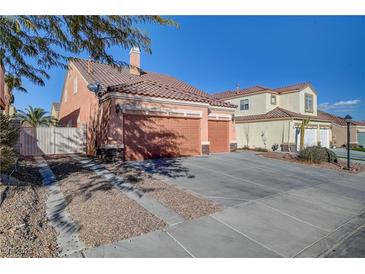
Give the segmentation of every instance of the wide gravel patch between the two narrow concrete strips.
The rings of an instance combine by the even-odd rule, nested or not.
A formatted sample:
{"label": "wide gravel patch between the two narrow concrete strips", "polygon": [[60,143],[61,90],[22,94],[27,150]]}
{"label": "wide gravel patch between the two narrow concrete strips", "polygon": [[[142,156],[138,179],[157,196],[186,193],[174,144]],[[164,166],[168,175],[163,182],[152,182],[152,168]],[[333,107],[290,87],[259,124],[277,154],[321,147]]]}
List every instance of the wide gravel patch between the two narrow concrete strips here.
{"label": "wide gravel patch between the two narrow concrete strips", "polygon": [[72,219],[86,246],[110,244],[166,224],[94,172],[69,157],[48,157]]}

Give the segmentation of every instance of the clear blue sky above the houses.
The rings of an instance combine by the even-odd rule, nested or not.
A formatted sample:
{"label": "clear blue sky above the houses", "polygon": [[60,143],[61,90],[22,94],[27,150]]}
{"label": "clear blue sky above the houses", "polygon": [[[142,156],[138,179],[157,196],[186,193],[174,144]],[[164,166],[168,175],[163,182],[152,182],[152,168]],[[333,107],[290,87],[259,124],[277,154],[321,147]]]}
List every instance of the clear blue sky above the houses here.
{"label": "clear blue sky above the houses", "polygon": [[[143,26],[152,55],[145,70],[175,76],[208,93],[253,85],[311,82],[323,109],[365,120],[365,17],[178,16],[180,28]],[[128,51],[110,49],[128,61]],[[15,106],[50,110],[65,71],[52,69],[45,87],[26,82]]]}

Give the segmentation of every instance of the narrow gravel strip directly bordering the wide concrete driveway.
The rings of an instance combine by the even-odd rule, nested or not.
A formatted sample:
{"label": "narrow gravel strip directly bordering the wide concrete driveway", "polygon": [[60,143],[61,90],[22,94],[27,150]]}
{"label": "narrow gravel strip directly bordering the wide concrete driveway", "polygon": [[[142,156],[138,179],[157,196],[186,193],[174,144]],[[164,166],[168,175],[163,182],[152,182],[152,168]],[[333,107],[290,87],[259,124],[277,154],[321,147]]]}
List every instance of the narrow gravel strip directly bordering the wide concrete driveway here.
{"label": "narrow gravel strip directly bordering the wide concrete driveway", "polygon": [[197,194],[177,187],[171,183],[156,179],[153,176],[137,170],[127,163],[107,163],[104,166],[111,172],[122,176],[143,192],[149,193],[154,199],[166,207],[173,209],[185,219],[195,219],[213,214],[222,207]]}

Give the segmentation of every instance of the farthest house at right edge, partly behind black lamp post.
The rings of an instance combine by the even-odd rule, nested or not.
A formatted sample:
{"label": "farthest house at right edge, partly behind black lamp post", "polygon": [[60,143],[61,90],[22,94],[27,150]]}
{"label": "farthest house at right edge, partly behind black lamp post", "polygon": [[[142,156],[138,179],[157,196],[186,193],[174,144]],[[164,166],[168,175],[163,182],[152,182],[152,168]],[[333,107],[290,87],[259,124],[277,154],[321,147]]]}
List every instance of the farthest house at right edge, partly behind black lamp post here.
{"label": "farthest house at right edge, partly behind black lamp post", "polygon": [[[347,123],[344,118],[318,111],[322,117],[331,121],[332,144],[336,147],[343,147],[347,144]],[[353,121],[350,126],[350,144],[365,147],[365,122]]]}

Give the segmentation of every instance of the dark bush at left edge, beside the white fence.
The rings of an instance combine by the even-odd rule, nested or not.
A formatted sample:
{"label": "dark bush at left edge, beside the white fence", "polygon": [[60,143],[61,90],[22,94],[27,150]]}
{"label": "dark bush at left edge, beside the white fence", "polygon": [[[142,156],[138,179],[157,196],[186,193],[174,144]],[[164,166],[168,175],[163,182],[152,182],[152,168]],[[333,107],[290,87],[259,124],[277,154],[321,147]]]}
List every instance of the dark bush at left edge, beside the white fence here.
{"label": "dark bush at left edge, beside the white fence", "polygon": [[14,145],[19,129],[11,123],[8,115],[0,113],[0,172],[7,171],[16,161]]}

